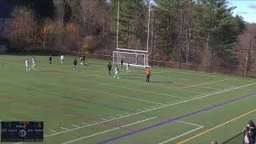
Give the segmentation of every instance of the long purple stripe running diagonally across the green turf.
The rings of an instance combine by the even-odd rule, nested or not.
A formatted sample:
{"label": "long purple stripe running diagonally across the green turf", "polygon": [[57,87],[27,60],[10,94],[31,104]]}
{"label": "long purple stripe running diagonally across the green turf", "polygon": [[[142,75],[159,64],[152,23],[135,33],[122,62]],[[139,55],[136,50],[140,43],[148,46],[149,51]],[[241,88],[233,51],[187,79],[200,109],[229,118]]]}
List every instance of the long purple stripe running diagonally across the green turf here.
{"label": "long purple stripe running diagonally across the green turf", "polygon": [[146,131],[146,130],[150,130],[150,129],[154,129],[154,128],[157,128],[159,126],[165,126],[167,124],[171,124],[173,122],[176,122],[176,121],[179,121],[179,120],[182,120],[183,118],[190,118],[194,115],[198,115],[198,114],[204,114],[210,110],[215,110],[215,109],[218,109],[222,106],[226,106],[226,105],[229,105],[230,103],[234,103],[234,102],[238,102],[238,101],[241,101],[243,99],[246,99],[246,98],[250,98],[250,97],[254,97],[256,96],[256,93],[253,93],[253,94],[248,94],[248,95],[245,95],[243,97],[240,97],[240,98],[235,98],[229,102],[223,102],[221,104],[218,104],[218,105],[215,105],[215,106],[210,106],[206,109],[203,109],[203,110],[198,110],[198,111],[195,111],[193,113],[190,113],[190,114],[186,114],[186,115],[182,115],[178,118],[171,118],[169,120],[167,120],[166,122],[160,122],[160,123],[157,123],[155,125],[152,125],[152,126],[148,126],[146,128],[143,128],[143,129],[140,129],[140,130],[135,130],[135,131],[132,131],[130,133],[127,133],[127,134],[122,134],[118,137],[114,137],[114,138],[110,138],[110,139],[107,139],[106,141],[102,141],[102,142],[98,142],[99,144],[105,144],[105,143],[108,143],[108,142],[113,142],[113,141],[118,141],[122,138],[128,138],[129,136],[131,135],[134,135],[134,134],[139,134],[139,133],[142,133],[143,131]]}

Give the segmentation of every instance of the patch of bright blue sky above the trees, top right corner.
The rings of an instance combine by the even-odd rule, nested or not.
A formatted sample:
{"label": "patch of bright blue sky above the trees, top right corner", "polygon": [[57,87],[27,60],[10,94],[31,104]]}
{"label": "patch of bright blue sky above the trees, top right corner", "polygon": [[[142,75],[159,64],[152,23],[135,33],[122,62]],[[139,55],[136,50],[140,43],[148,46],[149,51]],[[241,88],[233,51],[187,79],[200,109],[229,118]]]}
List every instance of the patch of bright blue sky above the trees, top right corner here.
{"label": "patch of bright blue sky above the trees, top right corner", "polygon": [[256,0],[228,0],[229,6],[237,6],[234,14],[241,15],[246,22],[256,23]]}

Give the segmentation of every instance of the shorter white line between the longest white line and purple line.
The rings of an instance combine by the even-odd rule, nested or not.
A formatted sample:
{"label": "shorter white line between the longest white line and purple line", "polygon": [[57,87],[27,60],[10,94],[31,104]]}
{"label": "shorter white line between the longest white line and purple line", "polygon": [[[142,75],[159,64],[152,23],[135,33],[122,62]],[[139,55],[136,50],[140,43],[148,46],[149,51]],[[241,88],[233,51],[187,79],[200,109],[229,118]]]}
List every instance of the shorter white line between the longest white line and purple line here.
{"label": "shorter white line between the longest white line and purple line", "polygon": [[[147,119],[144,119],[144,120],[142,120],[142,121],[130,123],[130,124],[128,124],[128,125],[121,126],[121,127],[133,126],[133,125],[135,125],[135,124],[138,124],[138,123],[141,123],[141,122],[146,122],[146,121],[149,121],[149,120],[154,119],[154,118],[158,118],[158,117],[147,118]],[[105,130],[105,131],[102,131],[102,132],[99,132],[99,133],[96,133],[96,134],[91,134],[91,135],[88,135],[88,136],[85,136],[85,137],[82,137],[82,138],[77,138],[77,139],[74,139],[74,140],[69,141],[69,142],[63,142],[62,144],[77,142],[77,141],[82,140],[82,139],[84,139],[84,138],[94,137],[95,135],[98,135],[98,134],[105,134],[105,133],[108,133],[108,132],[110,132],[110,131],[118,130],[118,129],[120,129],[120,127],[117,127],[117,128],[114,128],[114,129],[110,129],[110,130]]]}

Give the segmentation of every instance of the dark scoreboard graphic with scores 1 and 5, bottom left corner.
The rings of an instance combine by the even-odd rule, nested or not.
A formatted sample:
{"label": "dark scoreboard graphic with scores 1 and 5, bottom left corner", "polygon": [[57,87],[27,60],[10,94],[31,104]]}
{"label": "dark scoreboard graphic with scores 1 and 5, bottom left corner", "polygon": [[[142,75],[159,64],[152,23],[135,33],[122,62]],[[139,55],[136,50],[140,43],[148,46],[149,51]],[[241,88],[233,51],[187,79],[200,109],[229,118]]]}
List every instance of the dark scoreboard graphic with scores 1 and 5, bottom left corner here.
{"label": "dark scoreboard graphic with scores 1 and 5, bottom left corner", "polygon": [[42,142],[43,122],[1,122],[1,142]]}

